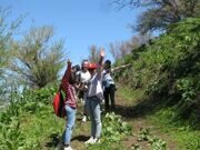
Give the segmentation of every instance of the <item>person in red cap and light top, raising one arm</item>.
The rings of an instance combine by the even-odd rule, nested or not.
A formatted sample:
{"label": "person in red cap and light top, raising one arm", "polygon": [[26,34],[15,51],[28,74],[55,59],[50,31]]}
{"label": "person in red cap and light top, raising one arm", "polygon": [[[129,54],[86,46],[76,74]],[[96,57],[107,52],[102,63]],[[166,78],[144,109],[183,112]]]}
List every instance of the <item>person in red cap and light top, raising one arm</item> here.
{"label": "person in red cap and light top, raising one arm", "polygon": [[88,109],[91,120],[91,137],[86,143],[100,142],[101,136],[101,110],[100,104],[103,100],[103,91],[101,86],[102,78],[102,61],[104,58],[104,50],[100,50],[99,63],[89,63],[88,70],[91,74],[91,79],[88,83]]}

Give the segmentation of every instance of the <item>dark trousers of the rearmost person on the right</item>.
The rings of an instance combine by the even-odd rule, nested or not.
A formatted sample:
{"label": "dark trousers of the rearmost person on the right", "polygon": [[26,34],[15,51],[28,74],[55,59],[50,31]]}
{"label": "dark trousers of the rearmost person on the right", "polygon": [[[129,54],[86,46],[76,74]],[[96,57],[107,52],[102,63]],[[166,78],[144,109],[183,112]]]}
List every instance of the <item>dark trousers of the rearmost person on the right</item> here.
{"label": "dark trousers of the rearmost person on the right", "polygon": [[111,101],[111,110],[114,110],[116,108],[116,101],[114,101],[114,92],[116,92],[116,86],[111,84],[110,87],[106,88],[103,91],[104,96],[104,110],[110,111],[110,101]]}

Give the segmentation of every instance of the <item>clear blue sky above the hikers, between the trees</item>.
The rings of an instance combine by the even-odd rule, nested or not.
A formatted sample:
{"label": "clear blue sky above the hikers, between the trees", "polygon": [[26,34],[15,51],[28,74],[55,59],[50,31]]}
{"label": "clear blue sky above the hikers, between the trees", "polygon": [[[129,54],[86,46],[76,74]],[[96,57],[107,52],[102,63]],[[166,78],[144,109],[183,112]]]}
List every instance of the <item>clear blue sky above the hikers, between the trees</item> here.
{"label": "clear blue sky above the hikers, between the trees", "polygon": [[[64,39],[66,52],[73,63],[88,58],[89,47],[104,47],[129,40],[141,9],[118,11],[112,0],[0,0],[3,8],[11,7],[10,18],[26,14],[20,30],[31,26],[53,26],[56,38]],[[107,58],[112,59],[109,52]]]}

